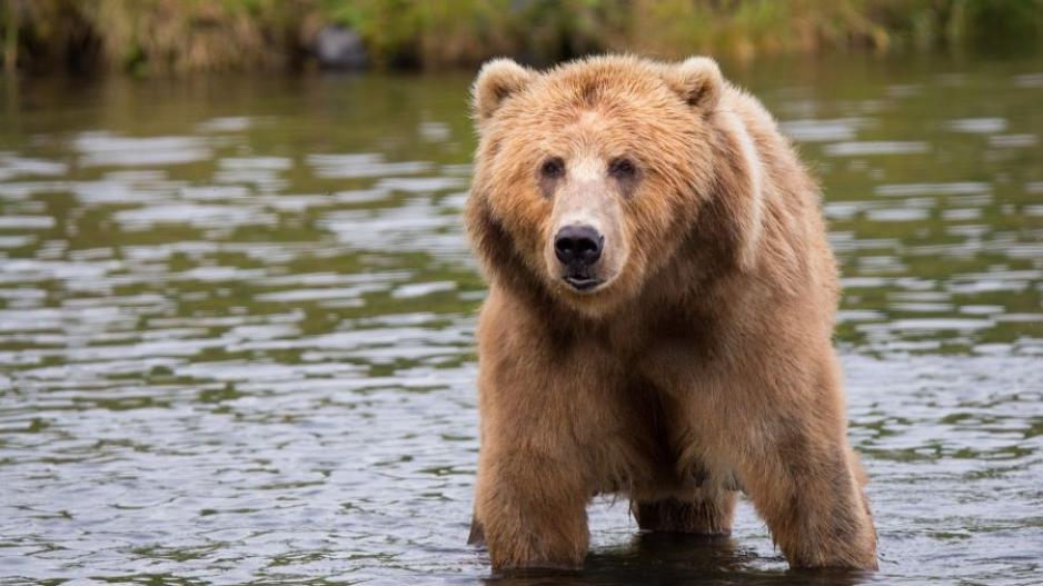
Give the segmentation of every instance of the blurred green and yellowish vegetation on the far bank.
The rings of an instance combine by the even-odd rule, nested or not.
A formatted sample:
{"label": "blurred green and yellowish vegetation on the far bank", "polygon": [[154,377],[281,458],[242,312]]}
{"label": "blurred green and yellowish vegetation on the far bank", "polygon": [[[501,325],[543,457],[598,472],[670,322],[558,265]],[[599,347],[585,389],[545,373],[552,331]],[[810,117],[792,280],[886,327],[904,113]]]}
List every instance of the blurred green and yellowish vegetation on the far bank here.
{"label": "blurred green and yellowish vegetation on the far bank", "polygon": [[593,51],[738,59],[823,51],[1031,50],[1043,0],[0,0],[8,69],[309,67],[327,24],[377,68]]}

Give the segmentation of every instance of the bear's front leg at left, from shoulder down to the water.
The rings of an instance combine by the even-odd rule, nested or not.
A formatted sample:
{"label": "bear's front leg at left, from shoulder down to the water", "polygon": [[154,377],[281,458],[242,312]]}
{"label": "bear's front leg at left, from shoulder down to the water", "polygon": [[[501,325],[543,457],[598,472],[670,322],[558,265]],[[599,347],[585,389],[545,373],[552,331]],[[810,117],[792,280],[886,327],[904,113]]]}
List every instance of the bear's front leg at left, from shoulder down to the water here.
{"label": "bear's front leg at left, from shoulder down to the water", "polygon": [[593,463],[617,425],[618,374],[595,346],[563,347],[560,336],[496,289],[483,307],[475,522],[494,570],[578,568],[587,552]]}

